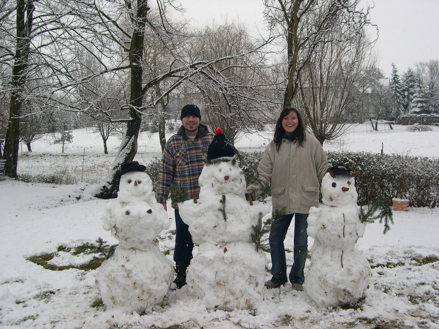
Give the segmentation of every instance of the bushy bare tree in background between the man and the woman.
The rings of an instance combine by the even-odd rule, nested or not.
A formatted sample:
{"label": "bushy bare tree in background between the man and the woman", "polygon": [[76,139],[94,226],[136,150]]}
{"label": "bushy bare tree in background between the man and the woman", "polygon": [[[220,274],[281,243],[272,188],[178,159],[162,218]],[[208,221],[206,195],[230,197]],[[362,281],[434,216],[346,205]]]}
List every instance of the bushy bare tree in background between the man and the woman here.
{"label": "bushy bare tree in background between the man and the woman", "polygon": [[[200,32],[191,47],[193,59],[236,55],[255,48],[255,41],[244,25],[224,21]],[[245,57],[230,57],[190,79],[191,97],[202,104],[203,118],[213,129],[221,127],[234,143],[243,132],[254,131],[267,122],[268,104],[278,86],[269,76],[269,67],[262,51]]]}

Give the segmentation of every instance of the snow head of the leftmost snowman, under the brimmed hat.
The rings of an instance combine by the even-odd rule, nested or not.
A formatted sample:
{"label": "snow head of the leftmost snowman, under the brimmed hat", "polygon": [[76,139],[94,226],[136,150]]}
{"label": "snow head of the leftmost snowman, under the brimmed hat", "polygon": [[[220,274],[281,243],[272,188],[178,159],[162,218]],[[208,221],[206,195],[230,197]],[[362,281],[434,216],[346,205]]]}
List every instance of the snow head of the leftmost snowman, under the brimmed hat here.
{"label": "snow head of the leftmost snowman, under the brimmed hat", "polygon": [[120,178],[117,197],[124,202],[151,200],[153,197],[151,178],[145,172],[127,172]]}

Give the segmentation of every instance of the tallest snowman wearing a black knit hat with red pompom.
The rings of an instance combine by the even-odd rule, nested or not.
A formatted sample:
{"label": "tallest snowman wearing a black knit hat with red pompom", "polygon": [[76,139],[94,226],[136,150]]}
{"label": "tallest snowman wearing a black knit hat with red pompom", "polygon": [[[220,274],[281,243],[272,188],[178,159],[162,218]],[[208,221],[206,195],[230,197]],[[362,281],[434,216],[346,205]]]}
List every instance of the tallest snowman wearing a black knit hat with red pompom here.
{"label": "tallest snowman wearing a black knit hat with red pompom", "polygon": [[245,179],[235,152],[216,129],[198,180],[200,197],[179,204],[181,218],[199,243],[187,269],[187,289],[206,308],[226,311],[253,309],[264,298],[267,260],[256,252],[251,232],[259,212],[270,212],[268,204],[250,205],[245,200]]}

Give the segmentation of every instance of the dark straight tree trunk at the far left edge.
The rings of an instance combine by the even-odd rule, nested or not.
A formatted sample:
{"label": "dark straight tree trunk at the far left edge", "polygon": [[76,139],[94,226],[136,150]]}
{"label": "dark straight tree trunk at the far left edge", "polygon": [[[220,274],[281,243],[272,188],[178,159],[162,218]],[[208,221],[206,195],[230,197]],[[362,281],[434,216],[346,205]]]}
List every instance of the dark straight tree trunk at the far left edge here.
{"label": "dark straight tree trunk at the far left edge", "polygon": [[29,60],[30,31],[34,6],[32,0],[17,0],[17,45],[12,68],[12,92],[9,103],[9,121],[4,142],[5,174],[17,177],[18,148],[20,143],[20,114],[22,92],[26,82]]}

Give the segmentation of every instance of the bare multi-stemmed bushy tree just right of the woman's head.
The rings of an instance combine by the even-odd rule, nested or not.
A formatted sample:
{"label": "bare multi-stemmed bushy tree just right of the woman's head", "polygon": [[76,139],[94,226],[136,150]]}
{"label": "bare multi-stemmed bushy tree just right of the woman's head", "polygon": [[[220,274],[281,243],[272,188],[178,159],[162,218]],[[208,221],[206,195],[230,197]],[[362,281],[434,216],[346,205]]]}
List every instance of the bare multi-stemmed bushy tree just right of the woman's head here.
{"label": "bare multi-stemmed bushy tree just right of the woman's head", "polygon": [[[340,31],[348,33],[349,31]],[[371,44],[361,31],[349,42],[320,43],[299,75],[298,97],[307,128],[323,145],[341,136],[349,125],[346,117],[358,116],[376,81]],[[331,39],[340,39],[332,36]],[[351,118],[351,123],[353,118]]]}

